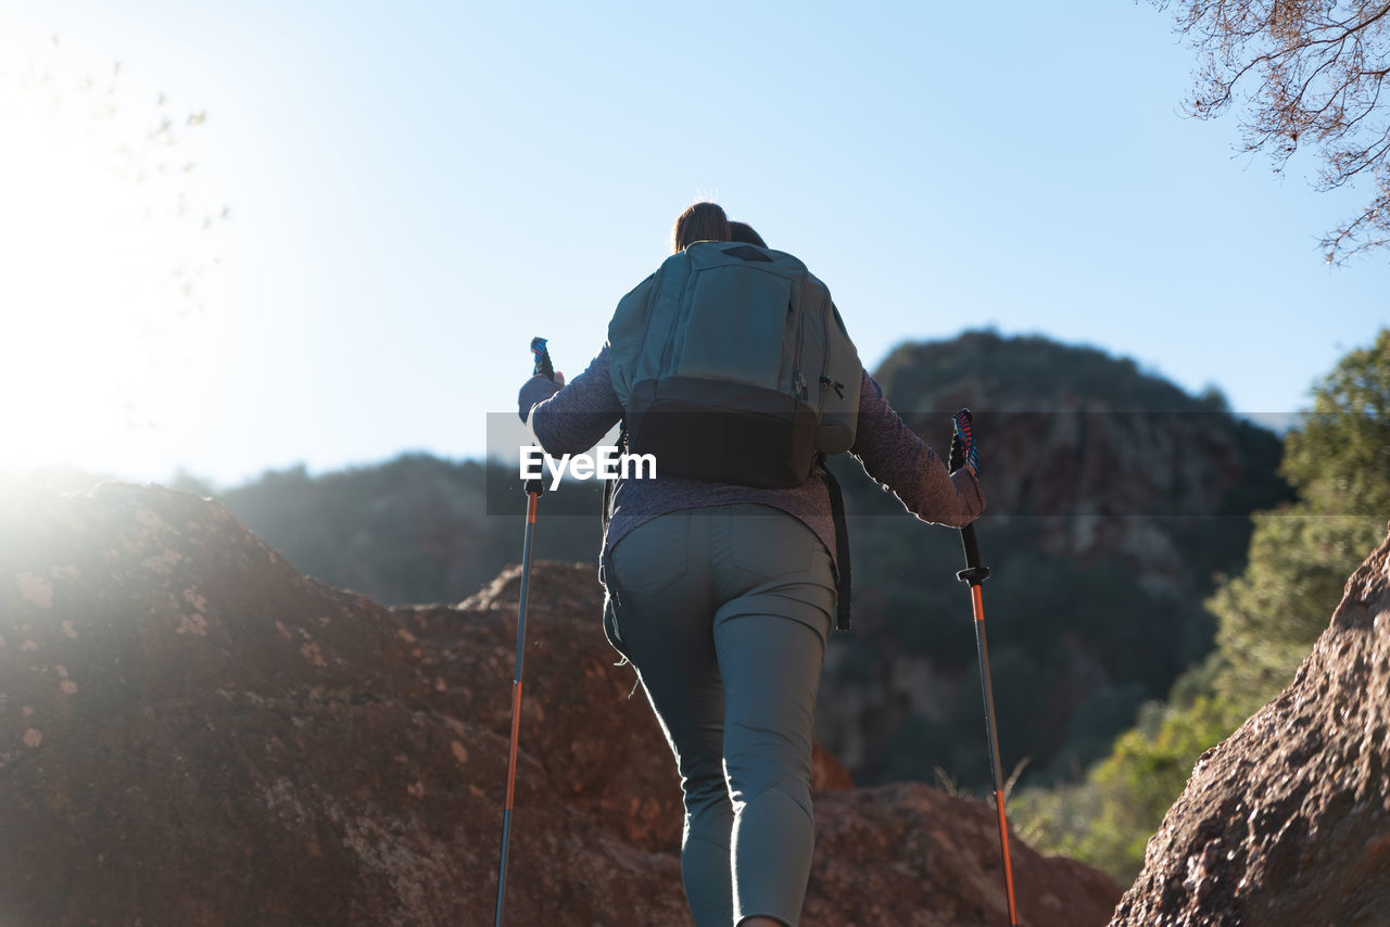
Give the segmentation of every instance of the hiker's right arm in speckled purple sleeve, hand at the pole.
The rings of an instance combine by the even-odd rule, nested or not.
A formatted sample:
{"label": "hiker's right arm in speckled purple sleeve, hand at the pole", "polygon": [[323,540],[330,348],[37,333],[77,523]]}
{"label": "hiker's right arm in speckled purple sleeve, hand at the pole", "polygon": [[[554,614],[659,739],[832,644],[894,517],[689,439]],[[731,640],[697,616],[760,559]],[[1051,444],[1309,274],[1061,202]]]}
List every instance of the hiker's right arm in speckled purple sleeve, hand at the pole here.
{"label": "hiker's right arm in speckled purple sleeve, hand at the pole", "polygon": [[867,371],[859,386],[859,421],[849,453],[923,521],[963,528],[984,511],[974,474],[965,468],[948,474],[941,457],[903,424]]}

